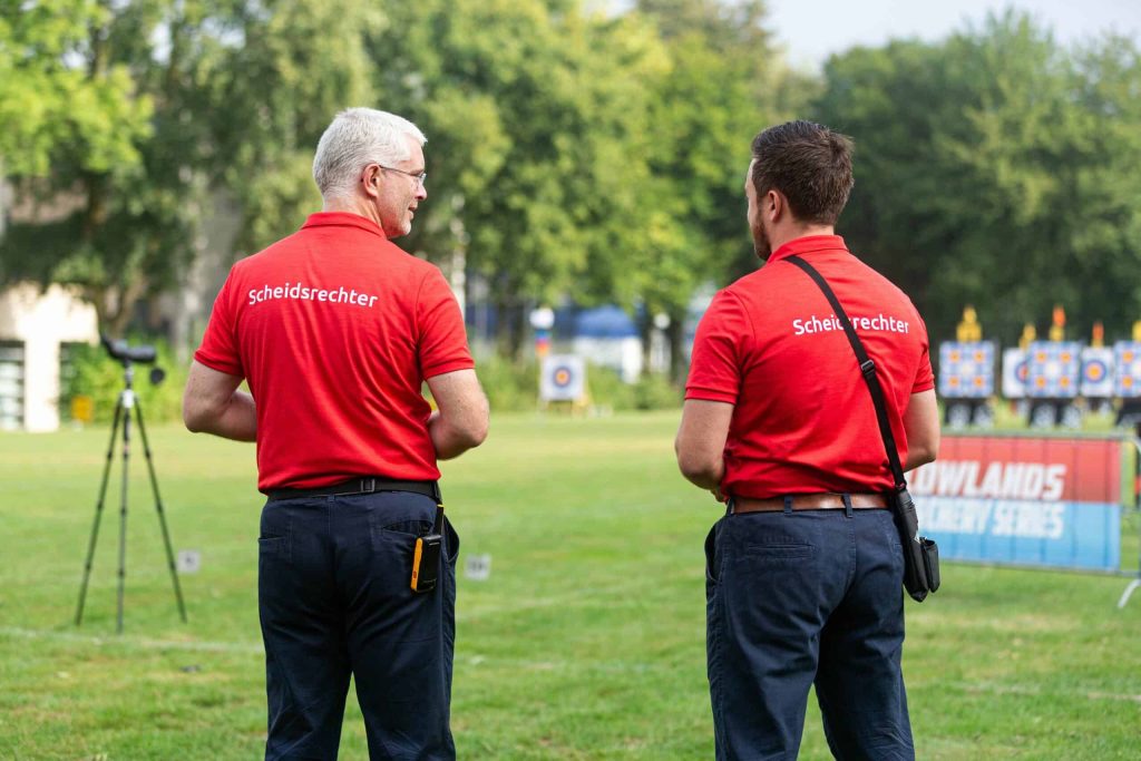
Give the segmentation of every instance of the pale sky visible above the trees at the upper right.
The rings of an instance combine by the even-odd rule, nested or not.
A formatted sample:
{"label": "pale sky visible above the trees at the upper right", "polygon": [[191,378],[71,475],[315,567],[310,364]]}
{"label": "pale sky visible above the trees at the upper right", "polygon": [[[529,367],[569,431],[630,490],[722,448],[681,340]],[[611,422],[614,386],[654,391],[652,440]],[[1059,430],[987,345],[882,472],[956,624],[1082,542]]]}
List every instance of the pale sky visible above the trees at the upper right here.
{"label": "pale sky visible above the trees at the upper right", "polygon": [[938,40],[1011,6],[1029,11],[1063,43],[1107,30],[1141,39],[1141,0],[768,0],[767,25],[792,64],[818,67],[857,44]]}

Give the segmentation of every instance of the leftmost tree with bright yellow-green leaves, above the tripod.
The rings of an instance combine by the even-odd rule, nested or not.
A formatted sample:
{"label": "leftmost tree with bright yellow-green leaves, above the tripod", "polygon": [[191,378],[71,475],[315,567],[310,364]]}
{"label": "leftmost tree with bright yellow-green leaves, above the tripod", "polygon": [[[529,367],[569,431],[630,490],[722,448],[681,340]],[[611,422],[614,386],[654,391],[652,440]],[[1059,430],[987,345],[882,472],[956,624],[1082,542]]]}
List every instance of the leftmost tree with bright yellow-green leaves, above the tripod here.
{"label": "leftmost tree with bright yellow-green leaves, above the tripod", "polygon": [[[56,41],[38,48],[39,63],[66,86],[46,98],[62,102],[44,112],[56,139],[33,162],[8,167],[38,208],[3,241],[5,278],[79,286],[111,332],[123,330],[138,299],[172,284],[191,250],[201,183],[173,86],[195,74],[184,38],[201,32],[201,7],[46,2],[17,14],[25,42]],[[64,10],[71,22],[57,15]],[[160,25],[170,31],[165,51],[155,42]],[[29,82],[37,87],[34,74]]]}

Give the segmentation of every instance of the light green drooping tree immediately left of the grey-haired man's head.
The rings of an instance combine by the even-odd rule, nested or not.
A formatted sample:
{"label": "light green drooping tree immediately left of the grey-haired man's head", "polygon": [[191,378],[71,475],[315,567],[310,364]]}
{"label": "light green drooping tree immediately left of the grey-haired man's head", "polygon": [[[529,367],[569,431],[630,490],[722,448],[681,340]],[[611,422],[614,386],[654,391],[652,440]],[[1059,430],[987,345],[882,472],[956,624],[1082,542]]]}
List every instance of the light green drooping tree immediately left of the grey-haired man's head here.
{"label": "light green drooping tree immediately left of the grey-haired man's head", "polygon": [[321,208],[317,140],[333,116],[375,99],[367,52],[386,25],[375,3],[243,0],[209,81],[216,183],[242,218],[237,252],[293,233]]}

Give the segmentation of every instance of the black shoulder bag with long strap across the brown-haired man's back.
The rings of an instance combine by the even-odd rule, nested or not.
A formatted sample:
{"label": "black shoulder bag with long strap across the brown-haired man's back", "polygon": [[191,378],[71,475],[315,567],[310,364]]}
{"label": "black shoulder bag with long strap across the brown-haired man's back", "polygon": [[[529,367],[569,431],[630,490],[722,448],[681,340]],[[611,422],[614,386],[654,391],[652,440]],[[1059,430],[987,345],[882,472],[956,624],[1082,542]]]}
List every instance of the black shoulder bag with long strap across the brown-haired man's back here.
{"label": "black shoulder bag with long strap across the brown-haired man's back", "polygon": [[912,495],[907,493],[907,481],[904,479],[904,468],[899,463],[899,450],[896,447],[896,437],[891,432],[891,422],[888,420],[888,407],[883,399],[883,387],[875,375],[875,363],[867,356],[864,345],[856,334],[848,314],[840,306],[840,300],[832,292],[827,281],[816,272],[810,264],[798,256],[788,257],[788,261],[800,267],[812,281],[824,291],[824,296],[836,313],[836,318],[844,327],[848,342],[856,353],[859,362],[860,374],[867,383],[867,390],[872,395],[872,403],[875,404],[875,418],[880,423],[880,435],[883,437],[883,448],[888,453],[888,464],[891,468],[891,477],[896,487],[888,495],[891,511],[896,517],[896,527],[899,529],[899,540],[904,547],[904,589],[916,602],[926,599],[928,593],[939,589],[939,547],[933,540],[920,536],[919,517],[915,515],[915,503]]}

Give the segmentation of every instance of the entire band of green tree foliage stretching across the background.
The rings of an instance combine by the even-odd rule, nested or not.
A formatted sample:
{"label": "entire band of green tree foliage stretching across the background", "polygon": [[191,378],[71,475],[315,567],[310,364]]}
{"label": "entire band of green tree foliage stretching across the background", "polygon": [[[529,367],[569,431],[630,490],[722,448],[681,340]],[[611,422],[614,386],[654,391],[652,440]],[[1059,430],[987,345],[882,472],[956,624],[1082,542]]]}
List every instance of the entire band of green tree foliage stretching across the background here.
{"label": "entire band of green tree foliage stretching across the background", "polygon": [[[593,6],[591,6],[593,7]],[[515,355],[572,296],[671,318],[756,266],[750,140],[814,116],[856,138],[840,232],[933,335],[964,303],[1013,340],[1054,303],[1085,331],[1141,314],[1141,55],[1060,46],[1006,13],[933,43],[788,68],[762,0],[0,0],[0,281],[81,286],[121,331],[177,286],[215,208],[232,257],[318,208],[310,165],[343,107],[429,137],[402,244],[464,266]],[[472,293],[484,298],[483,292]],[[675,372],[680,370],[674,369]]]}

